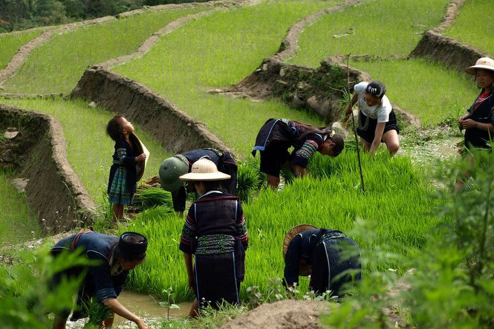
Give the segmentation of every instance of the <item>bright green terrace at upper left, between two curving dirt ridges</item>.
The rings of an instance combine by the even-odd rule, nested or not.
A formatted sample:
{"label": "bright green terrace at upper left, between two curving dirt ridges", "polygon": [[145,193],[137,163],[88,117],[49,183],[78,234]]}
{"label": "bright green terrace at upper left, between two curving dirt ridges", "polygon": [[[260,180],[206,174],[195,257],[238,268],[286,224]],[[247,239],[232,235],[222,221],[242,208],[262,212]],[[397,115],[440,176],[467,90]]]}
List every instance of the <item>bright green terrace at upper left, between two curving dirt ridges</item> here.
{"label": "bright green terrace at upper left, between two curving dirt ridges", "polygon": [[133,53],[161,27],[201,10],[150,12],[56,34],[4,82],[5,92],[69,93],[87,66]]}

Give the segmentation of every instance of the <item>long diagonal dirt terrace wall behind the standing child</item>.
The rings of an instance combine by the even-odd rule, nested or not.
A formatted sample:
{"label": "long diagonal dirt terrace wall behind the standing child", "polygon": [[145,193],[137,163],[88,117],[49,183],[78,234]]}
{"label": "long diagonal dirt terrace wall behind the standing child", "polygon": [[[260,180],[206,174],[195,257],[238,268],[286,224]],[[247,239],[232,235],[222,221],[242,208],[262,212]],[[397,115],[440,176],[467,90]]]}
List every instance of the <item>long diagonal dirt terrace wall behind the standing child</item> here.
{"label": "long diagonal dirt terrace wall behind the standing child", "polygon": [[93,66],[84,72],[71,98],[95,101],[130,121],[139,123],[162,145],[176,153],[201,147],[229,149],[203,123],[182,112],[149,88],[102,68]]}

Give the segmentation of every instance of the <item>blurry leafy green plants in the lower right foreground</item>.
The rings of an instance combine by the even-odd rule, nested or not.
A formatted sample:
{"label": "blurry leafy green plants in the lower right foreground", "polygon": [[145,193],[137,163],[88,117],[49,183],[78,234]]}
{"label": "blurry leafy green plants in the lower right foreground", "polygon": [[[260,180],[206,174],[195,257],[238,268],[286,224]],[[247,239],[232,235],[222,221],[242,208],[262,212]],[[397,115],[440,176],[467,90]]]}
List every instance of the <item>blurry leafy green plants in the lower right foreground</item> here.
{"label": "blurry leafy green plants in the lower right foreground", "polygon": [[[494,157],[475,152],[474,158],[474,165],[466,159],[438,166],[438,180],[448,186],[437,193],[438,217],[449,220],[432,228],[420,251],[403,257],[413,271],[396,280],[373,270],[357,296],[325,318],[329,328],[493,328]],[[458,188],[466,172],[470,178]]]}

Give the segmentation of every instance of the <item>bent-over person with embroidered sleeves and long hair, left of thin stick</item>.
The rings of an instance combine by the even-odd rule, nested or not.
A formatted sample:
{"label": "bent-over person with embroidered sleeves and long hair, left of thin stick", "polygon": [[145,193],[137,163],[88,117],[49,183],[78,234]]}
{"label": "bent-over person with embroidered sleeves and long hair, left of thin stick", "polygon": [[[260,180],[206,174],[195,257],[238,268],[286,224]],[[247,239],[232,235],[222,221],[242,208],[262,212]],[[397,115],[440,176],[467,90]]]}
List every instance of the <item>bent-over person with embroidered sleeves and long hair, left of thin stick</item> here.
{"label": "bent-over person with embroidered sleeves and long hair, left of thin stick", "polygon": [[[292,153],[288,149],[294,147]],[[261,153],[261,171],[268,186],[276,189],[282,167],[290,167],[295,177],[307,174],[309,159],[316,151],[325,156],[338,156],[344,147],[343,137],[332,134],[330,127],[316,127],[287,119],[268,119],[257,134],[252,156]]]}

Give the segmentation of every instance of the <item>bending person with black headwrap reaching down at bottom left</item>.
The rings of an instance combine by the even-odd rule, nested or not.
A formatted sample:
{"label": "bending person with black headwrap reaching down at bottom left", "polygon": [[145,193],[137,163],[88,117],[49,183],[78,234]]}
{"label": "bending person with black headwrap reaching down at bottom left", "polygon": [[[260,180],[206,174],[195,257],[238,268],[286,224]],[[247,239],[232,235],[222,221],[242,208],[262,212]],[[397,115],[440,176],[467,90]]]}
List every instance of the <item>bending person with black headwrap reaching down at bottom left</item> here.
{"label": "bending person with black headwrap reaching down at bottom left", "polygon": [[[80,232],[58,241],[51,248],[51,254],[54,257],[62,257],[64,252],[73,252],[80,248],[89,260],[97,261],[98,265],[73,267],[56,273],[53,279],[56,286],[64,278],[75,279],[80,273],[87,271],[78,291],[71,321],[87,317],[82,309],[83,305],[96,298],[97,302],[104,304],[111,312],[111,316],[104,320],[101,328],[111,328],[114,314],[134,322],[137,328],[148,328],[141,318],[117,301],[128,272],[143,263],[148,239],[136,232],[125,232],[120,237],[93,231]],[[70,313],[71,310],[67,310],[63,314],[56,314],[53,329],[64,329]]]}

